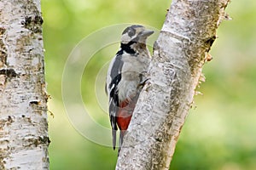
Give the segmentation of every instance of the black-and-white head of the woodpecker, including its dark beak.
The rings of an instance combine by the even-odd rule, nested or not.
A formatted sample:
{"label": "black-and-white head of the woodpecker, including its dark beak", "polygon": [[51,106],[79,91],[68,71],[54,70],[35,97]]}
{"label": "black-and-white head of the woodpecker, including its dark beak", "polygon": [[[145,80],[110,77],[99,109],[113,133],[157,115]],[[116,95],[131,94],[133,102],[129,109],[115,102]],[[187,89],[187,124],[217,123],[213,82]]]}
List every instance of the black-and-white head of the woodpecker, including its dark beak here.
{"label": "black-and-white head of the woodpecker, including its dark beak", "polygon": [[121,43],[128,44],[129,42],[139,42],[146,44],[148,36],[154,31],[146,30],[144,26],[133,25],[125,28],[122,33]]}

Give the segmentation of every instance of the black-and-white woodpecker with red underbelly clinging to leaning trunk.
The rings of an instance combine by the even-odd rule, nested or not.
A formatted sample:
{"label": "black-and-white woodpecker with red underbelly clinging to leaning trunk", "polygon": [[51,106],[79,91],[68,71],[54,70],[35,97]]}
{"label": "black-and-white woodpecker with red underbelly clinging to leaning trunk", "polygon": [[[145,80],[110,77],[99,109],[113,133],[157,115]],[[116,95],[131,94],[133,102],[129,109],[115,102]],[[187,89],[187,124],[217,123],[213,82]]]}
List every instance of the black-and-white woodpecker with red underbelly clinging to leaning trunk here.
{"label": "black-and-white woodpecker with red underbelly clinging to leaning trunk", "polygon": [[112,127],[113,150],[116,146],[116,131],[119,133],[119,150],[125,131],[137,104],[138,96],[146,82],[150,54],[147,38],[154,31],[144,26],[133,25],[125,28],[120,48],[108,67],[106,93],[108,94],[109,118]]}

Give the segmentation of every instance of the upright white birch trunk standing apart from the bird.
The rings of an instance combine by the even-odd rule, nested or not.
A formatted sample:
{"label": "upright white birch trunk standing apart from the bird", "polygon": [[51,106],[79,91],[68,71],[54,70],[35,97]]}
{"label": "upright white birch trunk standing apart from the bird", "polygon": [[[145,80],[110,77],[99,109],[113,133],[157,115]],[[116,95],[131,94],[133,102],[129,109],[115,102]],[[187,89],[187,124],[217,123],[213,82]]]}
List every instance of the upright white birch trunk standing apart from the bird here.
{"label": "upright white birch trunk standing apart from the bird", "polygon": [[39,0],[0,1],[0,169],[48,169]]}

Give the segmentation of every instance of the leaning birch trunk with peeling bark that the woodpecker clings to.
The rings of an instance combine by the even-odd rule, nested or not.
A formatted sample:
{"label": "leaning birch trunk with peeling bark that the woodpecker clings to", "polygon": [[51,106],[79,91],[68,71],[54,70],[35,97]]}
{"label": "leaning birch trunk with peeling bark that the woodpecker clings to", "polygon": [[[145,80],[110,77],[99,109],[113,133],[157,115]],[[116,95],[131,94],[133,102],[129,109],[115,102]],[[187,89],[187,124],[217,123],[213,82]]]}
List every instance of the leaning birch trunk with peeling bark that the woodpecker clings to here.
{"label": "leaning birch trunk with peeling bark that the woodpecker clings to", "polygon": [[116,169],[169,169],[229,0],[173,0]]}

